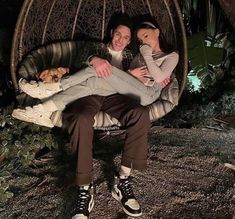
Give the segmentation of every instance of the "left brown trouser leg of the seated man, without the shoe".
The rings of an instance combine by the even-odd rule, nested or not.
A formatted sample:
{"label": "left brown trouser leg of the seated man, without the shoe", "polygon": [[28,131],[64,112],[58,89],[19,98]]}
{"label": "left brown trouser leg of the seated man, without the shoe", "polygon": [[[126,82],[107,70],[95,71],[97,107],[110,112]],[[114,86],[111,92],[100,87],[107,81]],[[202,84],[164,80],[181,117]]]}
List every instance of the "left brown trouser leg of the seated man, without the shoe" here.
{"label": "left brown trouser leg of the seated man, without the shoe", "polygon": [[68,130],[71,150],[77,157],[77,185],[92,181],[94,116],[101,108],[102,99],[99,96],[84,97],[63,112],[63,126]]}

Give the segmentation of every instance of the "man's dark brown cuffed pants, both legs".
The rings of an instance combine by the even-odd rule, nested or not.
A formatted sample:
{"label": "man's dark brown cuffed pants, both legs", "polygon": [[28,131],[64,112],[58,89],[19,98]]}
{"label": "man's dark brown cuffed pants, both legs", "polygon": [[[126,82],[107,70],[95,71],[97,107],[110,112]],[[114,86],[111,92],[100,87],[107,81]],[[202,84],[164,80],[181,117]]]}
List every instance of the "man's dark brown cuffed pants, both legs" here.
{"label": "man's dark brown cuffed pants, both legs", "polygon": [[76,184],[90,184],[93,179],[93,124],[97,112],[104,111],[126,128],[121,165],[137,170],[146,168],[150,128],[149,111],[126,96],[88,96],[73,102],[63,113],[72,152],[77,158]]}

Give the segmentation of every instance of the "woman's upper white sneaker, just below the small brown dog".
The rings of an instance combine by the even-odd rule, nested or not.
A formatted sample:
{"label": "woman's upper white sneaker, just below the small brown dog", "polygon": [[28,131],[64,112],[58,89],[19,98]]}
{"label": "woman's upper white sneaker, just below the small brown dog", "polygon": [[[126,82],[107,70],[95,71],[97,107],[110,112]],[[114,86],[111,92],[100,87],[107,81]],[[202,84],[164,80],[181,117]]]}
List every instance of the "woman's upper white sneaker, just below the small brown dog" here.
{"label": "woman's upper white sneaker, just below the small brown dog", "polygon": [[28,82],[23,78],[19,80],[19,88],[29,96],[38,99],[45,99],[51,97],[62,90],[60,88],[60,82],[55,82],[55,83],[43,83],[41,81]]}

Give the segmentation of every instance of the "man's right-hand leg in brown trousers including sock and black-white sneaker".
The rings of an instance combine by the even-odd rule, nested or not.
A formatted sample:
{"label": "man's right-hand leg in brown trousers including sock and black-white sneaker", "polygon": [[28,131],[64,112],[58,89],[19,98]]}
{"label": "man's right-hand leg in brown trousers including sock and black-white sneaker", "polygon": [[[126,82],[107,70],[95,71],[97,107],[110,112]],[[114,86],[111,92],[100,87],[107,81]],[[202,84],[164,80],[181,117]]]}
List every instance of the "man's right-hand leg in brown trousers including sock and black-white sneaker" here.
{"label": "man's right-hand leg in brown trousers including sock and black-white sneaker", "polygon": [[147,165],[147,134],[151,125],[148,108],[126,96],[112,95],[105,98],[101,110],[117,118],[126,127],[121,168],[115,179],[112,195],[122,204],[126,214],[140,216],[142,211],[133,194],[129,175],[132,168],[143,170]]}

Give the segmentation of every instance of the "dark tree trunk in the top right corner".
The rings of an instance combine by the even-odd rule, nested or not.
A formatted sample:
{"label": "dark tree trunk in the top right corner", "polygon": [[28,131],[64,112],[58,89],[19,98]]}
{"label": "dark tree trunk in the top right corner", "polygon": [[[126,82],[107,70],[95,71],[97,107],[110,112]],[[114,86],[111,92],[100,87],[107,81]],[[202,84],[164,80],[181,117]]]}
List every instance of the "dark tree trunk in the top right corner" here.
{"label": "dark tree trunk in the top right corner", "polygon": [[223,9],[226,17],[235,29],[235,1],[234,0],[219,0],[220,6]]}

